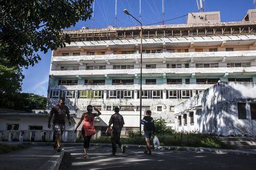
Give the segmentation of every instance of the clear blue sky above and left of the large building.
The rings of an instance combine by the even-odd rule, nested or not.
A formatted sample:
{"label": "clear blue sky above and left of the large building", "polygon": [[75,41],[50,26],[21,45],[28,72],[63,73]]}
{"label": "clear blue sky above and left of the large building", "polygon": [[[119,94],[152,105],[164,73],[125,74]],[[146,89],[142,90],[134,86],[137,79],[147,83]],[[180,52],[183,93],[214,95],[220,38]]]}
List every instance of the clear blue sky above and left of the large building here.
{"label": "clear blue sky above and left of the large building", "polygon": [[[148,25],[161,22],[161,0],[142,1],[142,23]],[[93,28],[104,28],[114,25],[115,0],[96,0]],[[198,12],[196,0],[165,0],[164,19],[179,17],[189,12]],[[205,0],[206,11],[221,12],[221,22],[240,21],[248,9],[254,9],[253,0]],[[122,10],[127,9],[135,17],[139,18],[139,0],[117,0],[117,26],[132,26],[137,23]],[[186,23],[186,17],[171,20],[166,24]],[[82,26],[92,28],[92,20],[80,21],[69,29],[80,29]],[[41,61],[34,67],[23,70],[23,92],[32,92],[39,95],[47,95],[49,67],[51,63],[51,51],[46,54],[39,53]]]}

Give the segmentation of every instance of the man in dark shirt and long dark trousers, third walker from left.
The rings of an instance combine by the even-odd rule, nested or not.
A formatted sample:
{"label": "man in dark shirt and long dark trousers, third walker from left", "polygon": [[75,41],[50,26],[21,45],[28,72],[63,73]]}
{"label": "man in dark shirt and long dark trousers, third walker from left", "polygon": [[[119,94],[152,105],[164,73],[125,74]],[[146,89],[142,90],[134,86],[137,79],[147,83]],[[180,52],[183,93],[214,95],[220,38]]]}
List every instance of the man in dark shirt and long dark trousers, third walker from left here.
{"label": "man in dark shirt and long dark trousers, third walker from left", "polygon": [[119,145],[119,147],[122,150],[122,153],[125,153],[126,146],[122,145],[120,142],[121,130],[124,126],[124,118],[122,117],[122,115],[119,114],[118,107],[114,108],[114,115],[112,115],[109,119],[109,125],[106,129],[106,133],[108,133],[111,124],[113,124],[111,131],[112,155],[116,155],[116,144]]}

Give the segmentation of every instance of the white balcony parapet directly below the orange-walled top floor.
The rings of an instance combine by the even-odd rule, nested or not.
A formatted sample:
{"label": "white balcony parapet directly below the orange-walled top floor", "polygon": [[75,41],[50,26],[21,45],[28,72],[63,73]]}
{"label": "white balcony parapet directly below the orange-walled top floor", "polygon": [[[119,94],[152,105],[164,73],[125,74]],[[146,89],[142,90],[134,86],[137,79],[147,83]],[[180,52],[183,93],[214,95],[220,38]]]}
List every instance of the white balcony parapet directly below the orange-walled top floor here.
{"label": "white balcony parapet directly below the orange-walled top floor", "polygon": [[[106,55],[78,55],[78,56],[54,56],[52,57],[52,62],[55,63],[93,63],[93,60],[97,63],[106,63],[107,62],[120,62],[124,60],[126,62],[139,62],[140,54],[106,54]],[[220,52],[170,52],[170,53],[155,53],[155,54],[143,54],[143,62],[152,62],[154,59],[155,62],[173,62],[179,59],[179,62],[190,62],[193,58],[194,62],[197,61],[222,61],[223,57],[226,57],[226,61],[234,60],[255,60],[256,54],[255,51],[220,51]],[[242,57],[242,58],[241,58]]]}

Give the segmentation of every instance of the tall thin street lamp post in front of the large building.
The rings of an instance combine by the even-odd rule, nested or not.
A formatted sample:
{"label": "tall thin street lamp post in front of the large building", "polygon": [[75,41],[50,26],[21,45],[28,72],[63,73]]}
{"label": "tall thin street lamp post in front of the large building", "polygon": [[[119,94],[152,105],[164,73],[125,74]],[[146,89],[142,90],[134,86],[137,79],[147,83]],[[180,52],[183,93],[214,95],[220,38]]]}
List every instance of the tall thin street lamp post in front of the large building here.
{"label": "tall thin street lamp post in front of the large building", "polygon": [[[137,20],[132,14],[128,12],[127,9],[123,10],[124,14],[130,15],[137,22],[140,23],[140,120],[142,119],[142,23]],[[140,123],[140,122],[139,122]],[[140,136],[142,136],[142,124],[140,124]]]}

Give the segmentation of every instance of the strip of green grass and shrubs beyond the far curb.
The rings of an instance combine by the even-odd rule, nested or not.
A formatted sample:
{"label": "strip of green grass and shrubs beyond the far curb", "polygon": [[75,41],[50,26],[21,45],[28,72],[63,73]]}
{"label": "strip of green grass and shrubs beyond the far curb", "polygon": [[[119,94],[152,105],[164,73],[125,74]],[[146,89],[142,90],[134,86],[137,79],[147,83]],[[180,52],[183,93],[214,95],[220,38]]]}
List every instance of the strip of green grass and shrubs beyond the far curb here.
{"label": "strip of green grass and shrubs beyond the far curb", "polygon": [[[231,145],[224,144],[218,137],[210,134],[198,133],[173,133],[173,134],[160,134],[158,135],[160,145],[163,146],[177,146],[177,147],[205,147],[205,148],[226,148],[234,149]],[[77,142],[83,142],[82,139]],[[130,145],[145,145],[144,137],[130,136],[121,138],[122,144]],[[153,137],[151,138],[153,144]],[[100,137],[99,139],[91,140],[94,144],[111,144],[110,137]]]}

